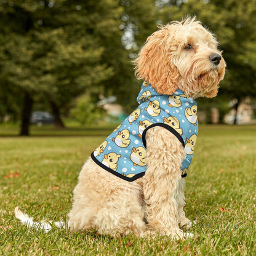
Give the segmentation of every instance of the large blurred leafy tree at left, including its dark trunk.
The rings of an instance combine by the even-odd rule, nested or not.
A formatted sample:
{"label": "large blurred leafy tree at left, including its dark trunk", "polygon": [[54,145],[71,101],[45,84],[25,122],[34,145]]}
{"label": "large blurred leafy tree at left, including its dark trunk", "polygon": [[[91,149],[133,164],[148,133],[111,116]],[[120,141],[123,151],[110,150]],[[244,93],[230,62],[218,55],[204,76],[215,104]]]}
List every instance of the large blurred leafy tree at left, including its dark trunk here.
{"label": "large blurred leafy tree at left, including its dark trunk", "polygon": [[118,4],[100,1],[93,10],[93,1],[1,2],[0,80],[23,97],[21,135],[28,135],[35,95],[47,98],[62,125],[60,108],[84,90],[98,94],[101,82],[113,75],[113,68],[100,62],[104,44],[91,28],[109,19],[119,29]]}

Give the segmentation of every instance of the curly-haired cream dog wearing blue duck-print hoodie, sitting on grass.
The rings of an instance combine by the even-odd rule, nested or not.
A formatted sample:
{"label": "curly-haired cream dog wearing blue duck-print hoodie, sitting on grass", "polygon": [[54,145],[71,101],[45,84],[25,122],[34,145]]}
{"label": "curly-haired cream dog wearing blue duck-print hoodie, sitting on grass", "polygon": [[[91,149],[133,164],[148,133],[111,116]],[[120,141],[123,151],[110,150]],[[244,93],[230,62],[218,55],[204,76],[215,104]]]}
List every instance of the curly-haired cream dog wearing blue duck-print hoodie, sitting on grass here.
{"label": "curly-haired cream dog wearing blue duck-print hoodie, sitting on grass", "polygon": [[[138,108],[92,153],[74,188],[68,227],[98,234],[190,238],[185,176],[198,132],[198,97],[217,95],[226,63],[195,17],[160,26],[134,61]],[[27,215],[15,209],[20,220]],[[32,224],[30,224],[32,225]]]}

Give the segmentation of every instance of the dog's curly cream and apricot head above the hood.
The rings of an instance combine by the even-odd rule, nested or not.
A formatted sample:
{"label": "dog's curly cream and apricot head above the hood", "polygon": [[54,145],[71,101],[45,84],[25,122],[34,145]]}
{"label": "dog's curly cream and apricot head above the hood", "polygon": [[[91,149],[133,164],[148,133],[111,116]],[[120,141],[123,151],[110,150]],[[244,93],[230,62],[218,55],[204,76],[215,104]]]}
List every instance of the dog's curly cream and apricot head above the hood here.
{"label": "dog's curly cream and apricot head above the hood", "polygon": [[181,89],[193,98],[215,97],[226,67],[217,46],[196,18],[172,22],[148,37],[134,62],[135,74],[159,94]]}

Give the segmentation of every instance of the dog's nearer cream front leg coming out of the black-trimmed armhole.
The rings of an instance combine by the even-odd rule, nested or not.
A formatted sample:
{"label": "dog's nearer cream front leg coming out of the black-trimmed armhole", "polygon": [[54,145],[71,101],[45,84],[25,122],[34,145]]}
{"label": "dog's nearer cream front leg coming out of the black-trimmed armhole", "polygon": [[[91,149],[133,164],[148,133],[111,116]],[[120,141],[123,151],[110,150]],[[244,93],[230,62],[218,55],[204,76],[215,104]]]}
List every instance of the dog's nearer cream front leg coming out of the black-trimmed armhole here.
{"label": "dog's nearer cream front leg coming out of the black-trimmed armhole", "polygon": [[178,201],[175,196],[181,180],[180,165],[185,156],[182,143],[163,127],[146,134],[148,166],[143,177],[143,193],[148,225],[155,233],[172,238],[187,238],[178,226]]}

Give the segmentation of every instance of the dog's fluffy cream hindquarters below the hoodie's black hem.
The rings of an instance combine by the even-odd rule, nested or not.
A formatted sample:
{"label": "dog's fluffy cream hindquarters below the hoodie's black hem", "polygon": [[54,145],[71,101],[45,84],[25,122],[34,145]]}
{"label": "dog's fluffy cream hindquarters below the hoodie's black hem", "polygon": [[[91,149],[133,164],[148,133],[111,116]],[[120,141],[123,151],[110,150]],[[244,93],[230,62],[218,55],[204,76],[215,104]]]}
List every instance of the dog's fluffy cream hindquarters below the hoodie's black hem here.
{"label": "dog's fluffy cream hindquarters below the hoodie's black hem", "polygon": [[136,234],[142,236],[141,178],[127,182],[95,164],[84,165],[74,188],[73,208],[68,226],[74,231],[96,228],[99,234]]}

